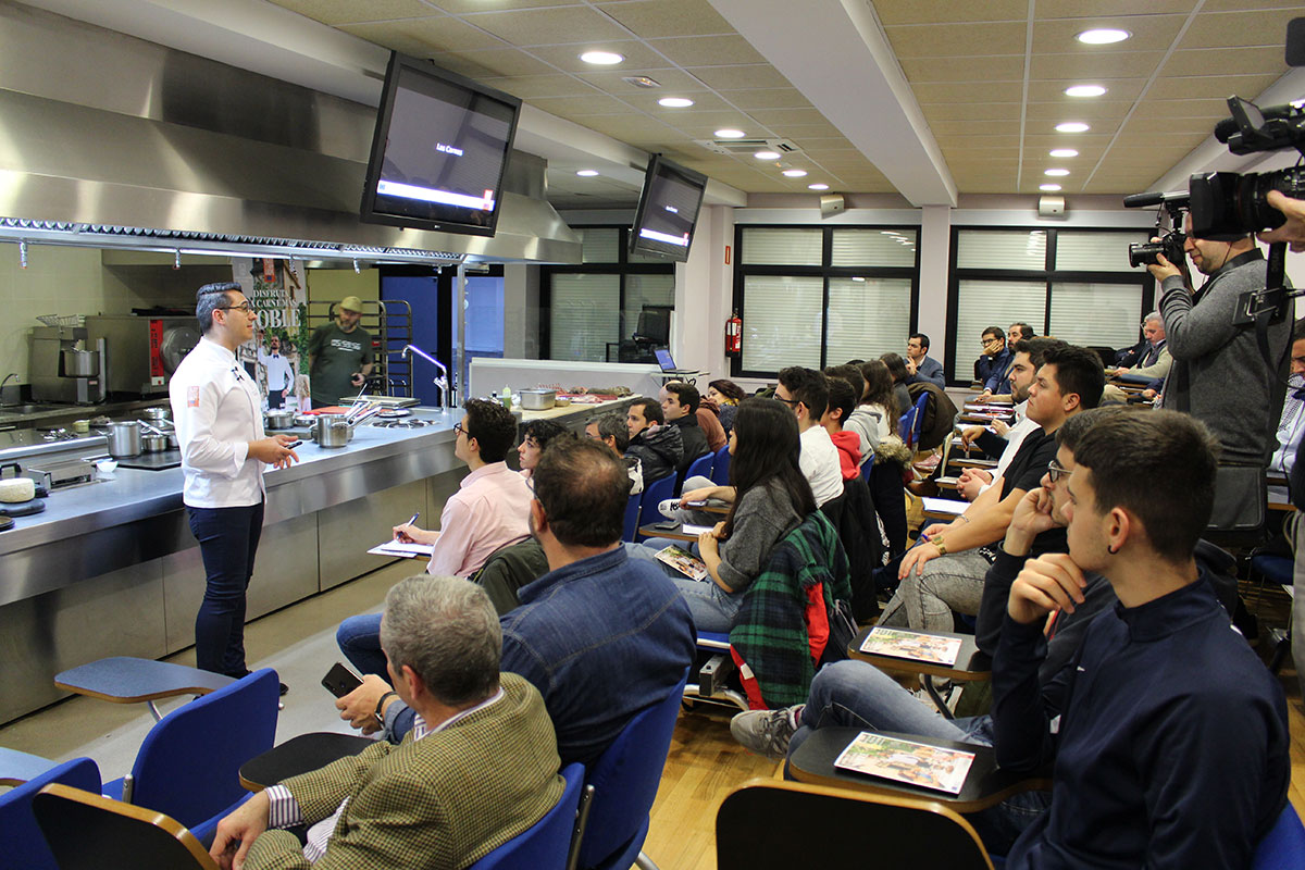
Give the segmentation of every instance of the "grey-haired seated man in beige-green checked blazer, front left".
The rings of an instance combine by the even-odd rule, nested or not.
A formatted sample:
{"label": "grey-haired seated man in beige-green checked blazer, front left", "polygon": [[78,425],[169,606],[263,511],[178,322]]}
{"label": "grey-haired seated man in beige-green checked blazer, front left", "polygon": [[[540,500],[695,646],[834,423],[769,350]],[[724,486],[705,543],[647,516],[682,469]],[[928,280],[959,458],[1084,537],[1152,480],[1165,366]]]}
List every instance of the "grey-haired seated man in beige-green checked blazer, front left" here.
{"label": "grey-haired seated man in beige-green checked blazer, front left", "polygon": [[[402,743],[294,776],[222,819],[223,870],[458,870],[543,818],[562,793],[539,691],[499,673],[502,635],[468,580],[411,577],[385,597],[381,647],[418,712]],[[309,826],[307,843],[291,831]]]}

